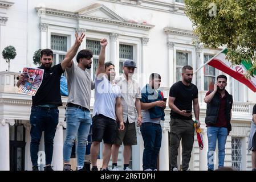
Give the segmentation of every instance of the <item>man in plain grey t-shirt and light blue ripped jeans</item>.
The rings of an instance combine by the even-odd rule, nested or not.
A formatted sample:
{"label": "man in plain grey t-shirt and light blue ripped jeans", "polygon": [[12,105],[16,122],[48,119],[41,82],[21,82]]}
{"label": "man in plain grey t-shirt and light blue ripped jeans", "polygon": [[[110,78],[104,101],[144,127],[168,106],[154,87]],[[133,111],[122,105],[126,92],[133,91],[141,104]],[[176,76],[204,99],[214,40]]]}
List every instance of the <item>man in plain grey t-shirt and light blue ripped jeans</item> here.
{"label": "man in plain grey t-shirt and light blue ripped jeans", "polygon": [[92,65],[92,52],[83,49],[76,56],[76,65],[73,61],[67,71],[68,101],[66,109],[67,132],[63,145],[63,171],[70,171],[70,156],[72,146],[77,138],[76,160],[77,170],[84,170],[84,156],[86,155],[87,137],[92,123],[90,113],[91,89],[94,82],[91,80],[90,69]]}

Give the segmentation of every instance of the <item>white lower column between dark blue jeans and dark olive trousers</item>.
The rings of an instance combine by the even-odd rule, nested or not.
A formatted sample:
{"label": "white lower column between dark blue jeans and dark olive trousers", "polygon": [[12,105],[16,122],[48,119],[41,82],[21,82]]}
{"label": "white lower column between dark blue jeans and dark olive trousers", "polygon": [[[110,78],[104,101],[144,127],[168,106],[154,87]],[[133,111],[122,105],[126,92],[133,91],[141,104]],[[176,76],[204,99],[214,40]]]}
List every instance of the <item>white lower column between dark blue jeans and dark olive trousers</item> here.
{"label": "white lower column between dark blue jeans and dark olive trousers", "polygon": [[159,152],[159,171],[169,171],[169,131],[170,121],[161,121],[162,143]]}

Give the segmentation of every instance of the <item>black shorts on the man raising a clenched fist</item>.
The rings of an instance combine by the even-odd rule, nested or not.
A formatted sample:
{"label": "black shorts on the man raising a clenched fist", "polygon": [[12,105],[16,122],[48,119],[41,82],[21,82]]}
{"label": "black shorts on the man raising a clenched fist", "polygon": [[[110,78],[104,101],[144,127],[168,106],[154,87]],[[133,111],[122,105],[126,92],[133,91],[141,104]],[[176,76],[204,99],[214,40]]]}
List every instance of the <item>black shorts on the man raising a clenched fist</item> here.
{"label": "black shorts on the man raising a clenched fist", "polygon": [[118,131],[117,123],[114,119],[105,117],[102,114],[92,118],[92,142],[113,144]]}

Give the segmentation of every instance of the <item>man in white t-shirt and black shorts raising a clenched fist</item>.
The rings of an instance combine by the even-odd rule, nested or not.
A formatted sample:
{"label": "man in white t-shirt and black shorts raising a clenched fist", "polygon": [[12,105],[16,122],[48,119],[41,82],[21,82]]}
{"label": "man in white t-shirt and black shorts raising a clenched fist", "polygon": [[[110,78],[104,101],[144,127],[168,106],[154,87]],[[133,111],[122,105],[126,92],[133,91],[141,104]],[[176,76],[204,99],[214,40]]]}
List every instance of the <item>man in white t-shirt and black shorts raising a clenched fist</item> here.
{"label": "man in white t-shirt and black shorts raising a clenched fist", "polygon": [[[111,147],[115,142],[117,130],[124,130],[123,108],[121,105],[121,90],[114,82],[115,66],[105,61],[105,47],[107,39],[100,40],[99,64],[95,77],[95,102],[92,118],[92,171],[97,171],[97,155],[100,142],[104,140],[102,171],[108,171],[111,157]],[[117,126],[116,118],[119,121]]]}

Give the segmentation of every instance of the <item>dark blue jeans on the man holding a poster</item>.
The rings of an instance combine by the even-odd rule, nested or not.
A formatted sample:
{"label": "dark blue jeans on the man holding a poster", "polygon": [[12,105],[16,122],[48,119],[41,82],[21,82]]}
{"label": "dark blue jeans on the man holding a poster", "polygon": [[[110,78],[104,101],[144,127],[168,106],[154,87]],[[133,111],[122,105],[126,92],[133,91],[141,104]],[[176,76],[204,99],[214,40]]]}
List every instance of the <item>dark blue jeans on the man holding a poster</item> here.
{"label": "dark blue jeans on the man holding a poster", "polygon": [[39,106],[31,107],[30,156],[32,166],[38,166],[38,150],[42,137],[42,131],[44,131],[44,152],[46,155],[46,165],[51,164],[52,153],[54,150],[54,136],[58,122],[59,110],[57,107],[52,109],[44,109],[43,107]]}

